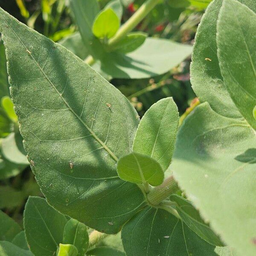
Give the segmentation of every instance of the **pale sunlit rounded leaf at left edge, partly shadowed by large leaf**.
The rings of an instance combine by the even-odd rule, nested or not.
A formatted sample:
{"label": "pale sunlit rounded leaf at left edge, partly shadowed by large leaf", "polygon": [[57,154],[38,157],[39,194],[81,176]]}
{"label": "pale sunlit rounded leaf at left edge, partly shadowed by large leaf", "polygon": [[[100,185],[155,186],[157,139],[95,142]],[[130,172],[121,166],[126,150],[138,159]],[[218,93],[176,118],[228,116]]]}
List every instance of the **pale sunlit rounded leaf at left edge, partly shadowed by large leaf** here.
{"label": "pale sunlit rounded leaf at left edge, partly shadowed by large leaf", "polygon": [[12,132],[6,138],[2,139],[1,150],[6,160],[22,165],[28,165],[26,152],[23,148],[20,132]]}

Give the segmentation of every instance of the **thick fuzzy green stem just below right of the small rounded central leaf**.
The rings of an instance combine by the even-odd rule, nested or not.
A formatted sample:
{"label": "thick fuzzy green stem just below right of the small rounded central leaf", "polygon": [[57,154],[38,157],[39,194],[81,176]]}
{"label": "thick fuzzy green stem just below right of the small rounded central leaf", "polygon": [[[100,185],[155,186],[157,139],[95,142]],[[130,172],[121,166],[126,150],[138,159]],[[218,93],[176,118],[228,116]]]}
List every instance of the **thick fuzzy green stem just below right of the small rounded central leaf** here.
{"label": "thick fuzzy green stem just below right of the small rounded central leaf", "polygon": [[168,198],[169,195],[176,192],[177,189],[177,182],[173,176],[170,176],[163,182],[163,184],[155,187],[148,193],[148,203],[153,206],[159,205],[163,200]]}

